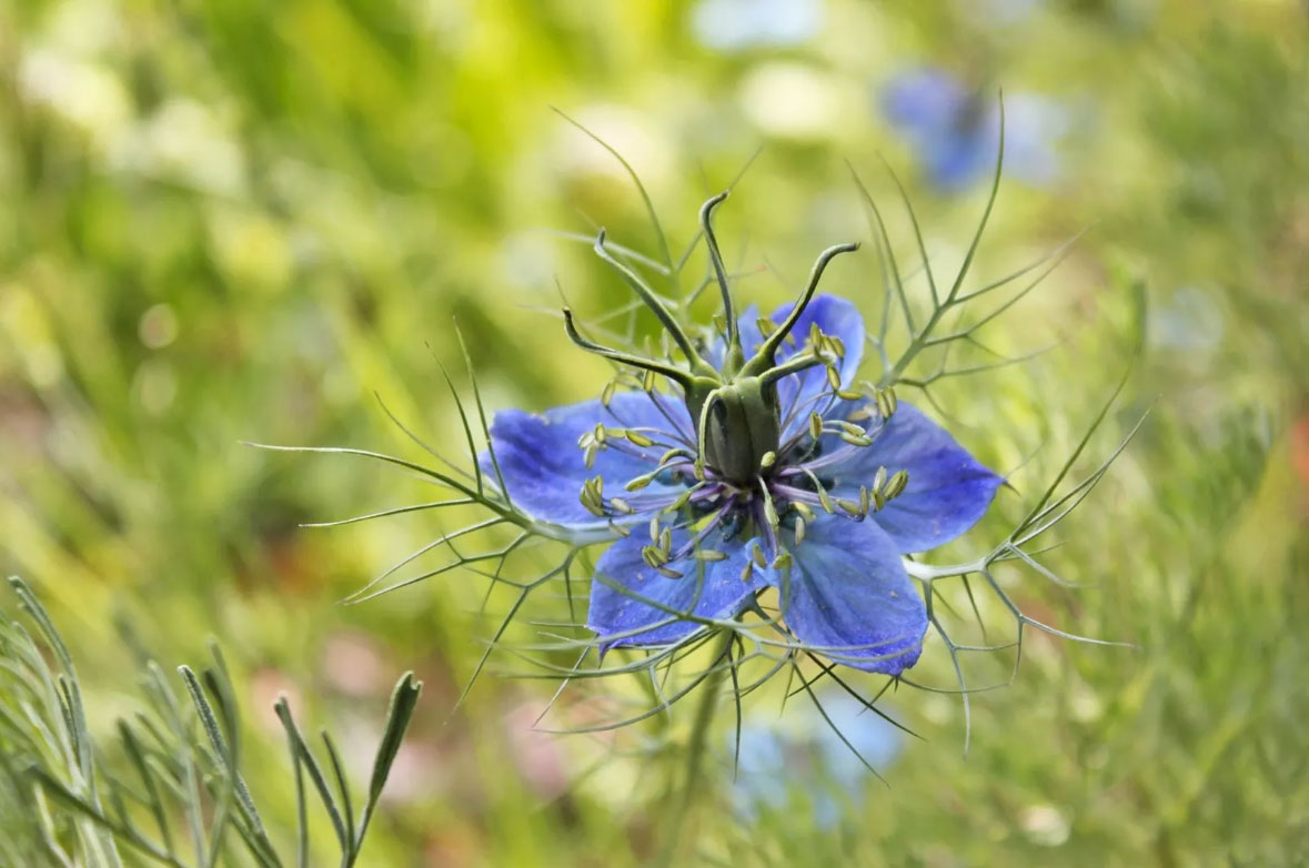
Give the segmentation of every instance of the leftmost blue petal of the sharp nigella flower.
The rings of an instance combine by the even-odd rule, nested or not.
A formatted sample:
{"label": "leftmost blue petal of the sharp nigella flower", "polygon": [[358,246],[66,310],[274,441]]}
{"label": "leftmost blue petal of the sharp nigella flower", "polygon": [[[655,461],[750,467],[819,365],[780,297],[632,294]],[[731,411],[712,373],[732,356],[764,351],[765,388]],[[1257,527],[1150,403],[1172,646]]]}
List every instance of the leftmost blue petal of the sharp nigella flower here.
{"label": "leftmost blue petal of the sharp nigella flower", "polygon": [[[691,431],[686,406],[675,398],[661,395],[661,406],[683,432]],[[589,528],[605,525],[577,499],[586,479],[601,477],[605,480],[606,496],[624,496],[623,486],[641,474],[647,474],[658,463],[660,456],[668,450],[668,439],[658,439],[648,449],[634,456],[618,449],[601,449],[596,453],[594,465],[588,469],[577,439],[603,423],[620,428],[673,428],[658,411],[654,399],[640,391],[624,391],[614,395],[605,407],[600,401],[586,401],[567,407],[547,410],[543,415],[505,410],[497,412],[491,423],[491,445],[500,462],[505,487],[514,504],[524,512],[556,525],[569,528]],[[670,433],[677,433],[670,432]],[[491,457],[479,457],[487,479],[495,480]],[[640,492],[647,496],[668,495],[675,497],[682,486],[653,483]],[[635,499],[635,497],[632,497]],[[652,497],[653,499],[653,497]]]}

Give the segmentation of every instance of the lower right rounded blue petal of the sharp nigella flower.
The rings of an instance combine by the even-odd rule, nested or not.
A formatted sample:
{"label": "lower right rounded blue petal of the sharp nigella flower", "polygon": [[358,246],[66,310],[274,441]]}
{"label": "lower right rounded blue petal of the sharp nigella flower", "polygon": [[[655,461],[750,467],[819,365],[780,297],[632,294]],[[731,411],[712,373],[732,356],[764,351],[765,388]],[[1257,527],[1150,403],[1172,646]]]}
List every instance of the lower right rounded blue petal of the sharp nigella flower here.
{"label": "lower right rounded blue petal of the sharp nigella flower", "polygon": [[872,521],[819,516],[781,571],[781,618],[796,638],[865,672],[898,676],[918,661],[927,609],[899,550]]}

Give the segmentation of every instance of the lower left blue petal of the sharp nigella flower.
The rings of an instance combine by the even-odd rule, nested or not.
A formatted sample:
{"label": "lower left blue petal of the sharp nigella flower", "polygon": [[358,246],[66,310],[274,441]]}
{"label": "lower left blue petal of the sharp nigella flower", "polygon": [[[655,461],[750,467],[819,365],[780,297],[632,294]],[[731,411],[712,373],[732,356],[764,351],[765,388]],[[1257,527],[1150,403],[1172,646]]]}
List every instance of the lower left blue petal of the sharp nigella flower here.
{"label": "lower left blue petal of the sharp nigella flower", "polygon": [[[689,539],[686,530],[674,530],[673,551],[683,549]],[[751,547],[741,538],[726,541],[721,530],[711,533],[700,545],[726,554],[726,560],[700,562],[690,555],[670,560],[668,568],[681,572],[681,579],[669,579],[648,567],[641,559],[641,547],[647,545],[649,538],[634,532],[631,537],[610,546],[596,564],[597,577],[590,585],[586,626],[601,638],[653,627],[634,636],[605,643],[602,647],[606,649],[615,645],[658,645],[677,642],[699,630],[702,624],[694,621],[672,621],[677,618],[675,613],[690,613],[700,618],[730,618],[740,614],[755,592],[764,587],[757,575],[758,571],[754,571],[749,581],[741,581],[741,572],[750,559]],[[672,611],[637,597],[654,601]]]}

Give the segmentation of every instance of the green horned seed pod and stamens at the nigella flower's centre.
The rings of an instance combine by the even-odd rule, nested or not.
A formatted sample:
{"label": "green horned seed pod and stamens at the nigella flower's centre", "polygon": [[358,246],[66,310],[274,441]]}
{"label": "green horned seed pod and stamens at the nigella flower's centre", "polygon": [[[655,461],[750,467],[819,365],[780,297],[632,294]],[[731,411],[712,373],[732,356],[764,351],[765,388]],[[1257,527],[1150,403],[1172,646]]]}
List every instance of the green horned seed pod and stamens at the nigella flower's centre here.
{"label": "green horned seed pod and stamens at the nigella flower's centre", "polygon": [[[662,357],[649,359],[594,343],[577,331],[572,312],[568,308],[563,312],[564,327],[575,344],[641,372],[641,390],[669,422],[666,431],[658,427],[607,428],[600,423],[584,432],[577,445],[584,450],[588,467],[601,449],[617,449],[652,465],[648,473],[626,480],[622,495],[606,494],[605,479],[597,475],[583,484],[579,499],[592,515],[607,518],[610,528],[623,535],[632,533],[635,521],[648,516],[651,542],[643,547],[641,556],[670,579],[683,575],[674,566],[689,556],[726,558],[706,546],[713,534],[723,539],[747,535],[759,541],[742,579],[749,579],[751,564],[759,568],[784,566],[789,559],[788,541],[795,545],[804,541],[806,522],[816,518],[816,511],[863,521],[895,497],[907,479],[903,471],[888,478],[886,469],[880,467],[872,486],[840,486],[834,470],[859,449],[872,445],[877,436],[870,425],[856,424],[856,419],[872,420],[876,412],[880,429],[894,412],[894,394],[876,389],[876,394],[850,390],[839,371],[846,347],[839,338],[823,334],[817,322],[810,323],[808,342],[792,336],[827,264],[857,245],[836,245],[819,254],[809,283],[781,322],[758,321],[759,344],[751,347],[753,355],[746,357],[712,225],[713,208],[725,198],[725,192],[713,196],[700,208],[700,226],[723,295],[724,334],[717,367],[709,364],[704,344],[691,340],[658,293],[609,251],[603,230],[596,240],[597,255],[654,313],[685,364],[674,359],[672,348],[665,348]],[[796,347],[795,351],[787,352],[784,343]],[[779,353],[785,353],[781,361]],[[801,401],[801,391],[796,389],[791,406],[783,412],[778,384],[804,377],[812,368],[826,368],[830,390]],[[665,398],[654,386],[656,377],[679,390],[691,431],[664,406]],[[615,380],[606,389],[609,397],[618,382]],[[870,410],[869,398],[876,399],[876,410]],[[603,401],[607,406],[609,398]],[[851,405],[856,410],[851,411]],[[838,416],[838,411],[848,415]],[[797,424],[805,414],[808,425]],[[783,432],[787,432],[785,440]],[[662,456],[658,450],[664,450]],[[652,484],[654,488],[649,488]],[[673,528],[689,538],[674,545]],[[788,541],[781,538],[783,532]]]}

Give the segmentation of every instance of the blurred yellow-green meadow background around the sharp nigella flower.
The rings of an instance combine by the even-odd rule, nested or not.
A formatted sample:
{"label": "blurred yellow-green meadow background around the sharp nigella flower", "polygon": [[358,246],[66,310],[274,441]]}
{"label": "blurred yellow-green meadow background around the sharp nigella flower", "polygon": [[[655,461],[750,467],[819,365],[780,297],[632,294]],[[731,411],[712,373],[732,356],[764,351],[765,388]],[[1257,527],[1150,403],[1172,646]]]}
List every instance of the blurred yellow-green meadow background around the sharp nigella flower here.
{"label": "blurred yellow-green meadow background around the sharp nigella flower", "polygon": [[[278,691],[359,746],[361,778],[386,691],[414,668],[427,690],[367,864],[648,860],[689,714],[611,740],[545,736],[531,724],[554,685],[488,677],[449,717],[496,623],[478,615],[484,580],[338,601],[457,525],[302,529],[429,490],[238,441],[420,456],[376,393],[457,453],[437,367],[459,376],[456,321],[488,410],[598,394],[606,365],[545,309],[556,279],[590,317],[627,296],[548,230],[605,225],[652,254],[656,238],[622,168],[551,106],[632,164],[674,249],[764,147],[721,211],[750,272],[741,298],[771,308],[817,250],[868,238],[846,160],[915,259],[878,154],[949,267],[986,183],[940,183],[888,114],[888,88],[923,67],[979,106],[1000,86],[1045,106],[1028,134],[1049,170],[1026,177],[1016,153],[979,279],[1089,228],[987,327],[999,352],[1050,351],[933,390],[961,441],[1021,467],[942,560],[1003,538],[1076,444],[1130,364],[1141,287],[1144,351],[1085,467],[1151,416],[1051,555],[1086,587],[1005,576],[1043,621],[1140,649],[1031,638],[1013,683],[973,696],[966,758],[959,698],[899,689],[886,707],[924,740],[886,749],[889,786],[833,780],[827,766],[853,761],[823,765],[821,720],[797,704],[779,717],[780,690],[761,693],[747,720],[784,762],[733,783],[724,720],[687,858],[1304,864],[1309,14],[1291,0],[7,0],[0,570],[63,626],[93,728],[132,708],[117,624],[169,662],[216,636],[264,758],[251,787],[284,837]],[[881,309],[867,249],[829,289]],[[973,660],[970,682],[1012,664]],[[939,643],[915,677],[953,685]]]}

